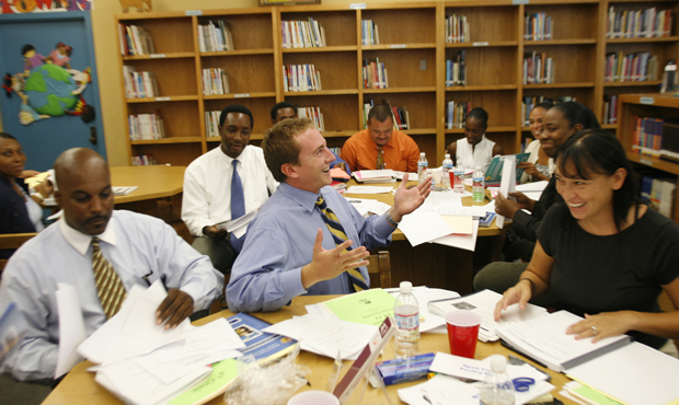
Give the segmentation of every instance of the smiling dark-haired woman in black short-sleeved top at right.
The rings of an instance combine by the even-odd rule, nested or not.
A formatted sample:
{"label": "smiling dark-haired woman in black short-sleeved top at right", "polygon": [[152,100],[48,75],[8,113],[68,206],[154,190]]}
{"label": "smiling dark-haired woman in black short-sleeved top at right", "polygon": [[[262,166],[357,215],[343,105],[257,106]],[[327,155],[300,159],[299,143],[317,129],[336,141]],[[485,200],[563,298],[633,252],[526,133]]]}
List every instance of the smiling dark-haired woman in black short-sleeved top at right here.
{"label": "smiling dark-haired woman in black short-sleeved top at right", "polygon": [[663,290],[679,308],[679,225],[638,202],[638,185],[618,139],[582,130],[560,149],[563,204],[542,221],[519,282],[497,303],[525,308],[549,288],[560,308],[585,316],[566,331],[594,342],[629,333],[660,348],[679,337],[679,311],[661,313]]}

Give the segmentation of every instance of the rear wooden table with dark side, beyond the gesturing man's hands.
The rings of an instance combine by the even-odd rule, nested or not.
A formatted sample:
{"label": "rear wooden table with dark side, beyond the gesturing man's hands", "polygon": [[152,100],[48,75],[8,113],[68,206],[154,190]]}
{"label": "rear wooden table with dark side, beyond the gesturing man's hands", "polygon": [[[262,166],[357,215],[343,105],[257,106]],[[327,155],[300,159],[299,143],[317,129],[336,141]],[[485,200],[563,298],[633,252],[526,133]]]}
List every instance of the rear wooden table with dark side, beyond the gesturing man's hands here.
{"label": "rear wooden table with dark side, beyond the gesturing man's hands", "polygon": [[[408,182],[407,186],[414,186],[417,182]],[[346,188],[360,185],[350,180]],[[398,187],[401,183],[378,183],[367,184],[369,186],[390,186]],[[469,190],[471,190],[471,187]],[[431,193],[452,193],[431,192]],[[490,192],[486,190],[486,199],[481,205],[490,202]],[[347,198],[377,199],[381,202],[393,206],[394,196],[392,193],[383,194],[348,194]],[[462,197],[462,205],[472,206],[471,197]],[[392,243],[389,247],[380,251],[389,251],[391,256],[391,279],[392,287],[396,287],[400,281],[412,281],[413,286],[428,286],[457,291],[460,294],[472,292],[472,280],[476,270],[492,262],[493,252],[496,244],[502,243],[499,236],[502,230],[495,225],[495,220],[488,228],[479,228],[479,238],[474,252],[445,246],[436,243],[423,243],[412,246],[405,239],[403,232],[396,229],[392,234]],[[384,287],[384,286],[382,286]]]}

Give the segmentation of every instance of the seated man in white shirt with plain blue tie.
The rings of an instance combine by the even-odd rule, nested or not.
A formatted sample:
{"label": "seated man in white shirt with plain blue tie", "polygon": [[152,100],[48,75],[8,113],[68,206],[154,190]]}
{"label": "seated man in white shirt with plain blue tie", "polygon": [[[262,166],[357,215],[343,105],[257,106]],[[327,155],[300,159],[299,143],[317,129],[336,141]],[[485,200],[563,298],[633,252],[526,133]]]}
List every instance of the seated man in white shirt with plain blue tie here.
{"label": "seated man in white shirt with plain blue tie", "polygon": [[253,126],[250,109],[226,107],[219,117],[220,147],[194,160],[184,173],[182,220],[198,236],[193,246],[223,274],[231,269],[245,235],[239,239],[216,223],[260,209],[278,187],[262,149],[248,144]]}

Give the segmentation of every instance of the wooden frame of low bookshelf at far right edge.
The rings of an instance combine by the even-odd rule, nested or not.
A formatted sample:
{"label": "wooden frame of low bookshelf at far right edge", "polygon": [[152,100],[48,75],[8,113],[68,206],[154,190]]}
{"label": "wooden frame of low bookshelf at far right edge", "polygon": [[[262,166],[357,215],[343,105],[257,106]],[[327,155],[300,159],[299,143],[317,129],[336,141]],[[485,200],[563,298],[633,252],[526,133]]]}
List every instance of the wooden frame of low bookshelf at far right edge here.
{"label": "wooden frame of low bookshelf at far right edge", "polygon": [[[660,172],[679,176],[679,163],[640,154],[632,149],[634,142],[635,117],[676,119],[679,116],[679,97],[674,94],[622,94],[617,135],[624,147],[628,159],[642,166],[654,167]],[[679,187],[675,194],[672,219],[679,222]]]}

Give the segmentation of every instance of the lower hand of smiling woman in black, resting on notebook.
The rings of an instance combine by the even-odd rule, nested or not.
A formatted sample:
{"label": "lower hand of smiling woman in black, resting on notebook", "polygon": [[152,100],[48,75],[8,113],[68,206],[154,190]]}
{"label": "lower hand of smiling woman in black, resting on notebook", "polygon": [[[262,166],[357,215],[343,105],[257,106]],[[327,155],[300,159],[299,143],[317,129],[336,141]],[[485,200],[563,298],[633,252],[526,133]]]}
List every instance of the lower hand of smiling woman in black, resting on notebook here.
{"label": "lower hand of smiling woman in black, resting on notebook", "polygon": [[597,343],[632,329],[634,317],[638,314],[634,311],[602,312],[598,315],[585,314],[584,321],[568,326],[566,335],[576,335],[576,340],[594,336],[591,343]]}

